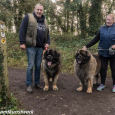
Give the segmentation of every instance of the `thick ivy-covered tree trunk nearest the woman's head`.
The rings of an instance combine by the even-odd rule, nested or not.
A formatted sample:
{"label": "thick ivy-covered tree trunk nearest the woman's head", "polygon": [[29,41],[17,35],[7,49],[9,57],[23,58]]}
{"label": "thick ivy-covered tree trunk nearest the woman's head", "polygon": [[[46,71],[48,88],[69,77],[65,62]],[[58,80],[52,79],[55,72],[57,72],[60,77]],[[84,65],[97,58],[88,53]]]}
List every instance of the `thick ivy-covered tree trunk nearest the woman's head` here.
{"label": "thick ivy-covered tree trunk nearest the woman's head", "polygon": [[91,7],[89,9],[89,35],[95,35],[102,25],[102,1],[91,0]]}

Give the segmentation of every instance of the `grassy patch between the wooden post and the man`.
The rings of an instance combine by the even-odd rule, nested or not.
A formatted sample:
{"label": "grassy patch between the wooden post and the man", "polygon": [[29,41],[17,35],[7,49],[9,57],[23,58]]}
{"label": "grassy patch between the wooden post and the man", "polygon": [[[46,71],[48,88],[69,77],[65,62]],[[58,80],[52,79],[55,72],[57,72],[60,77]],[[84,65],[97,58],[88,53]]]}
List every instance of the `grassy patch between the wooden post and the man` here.
{"label": "grassy patch between the wooden post and the man", "polygon": [[17,34],[7,33],[8,67],[25,68],[27,66],[26,51],[20,49]]}

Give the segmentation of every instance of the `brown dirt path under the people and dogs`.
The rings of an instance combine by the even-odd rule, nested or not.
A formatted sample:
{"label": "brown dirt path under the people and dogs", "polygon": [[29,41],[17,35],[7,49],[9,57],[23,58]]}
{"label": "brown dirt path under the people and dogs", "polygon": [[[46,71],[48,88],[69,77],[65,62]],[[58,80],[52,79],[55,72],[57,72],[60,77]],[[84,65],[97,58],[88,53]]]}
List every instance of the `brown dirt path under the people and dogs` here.
{"label": "brown dirt path under the people and dogs", "polygon": [[[78,80],[75,76],[60,74],[58,91],[44,92],[34,89],[26,93],[26,70],[9,68],[10,91],[22,104],[21,108],[34,111],[34,115],[115,115],[115,93],[112,93],[112,80],[107,78],[106,89],[102,92],[93,88],[93,94],[86,89],[77,92]],[[43,77],[41,85],[44,86]]]}

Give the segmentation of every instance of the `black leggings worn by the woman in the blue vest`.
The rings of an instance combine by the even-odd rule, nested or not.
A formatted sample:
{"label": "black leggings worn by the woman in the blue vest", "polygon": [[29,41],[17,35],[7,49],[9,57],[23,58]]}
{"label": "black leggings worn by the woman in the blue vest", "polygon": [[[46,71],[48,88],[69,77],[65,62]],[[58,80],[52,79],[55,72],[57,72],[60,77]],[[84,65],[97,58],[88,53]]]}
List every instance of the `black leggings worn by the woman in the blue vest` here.
{"label": "black leggings worn by the woman in the blue vest", "polygon": [[105,85],[108,62],[110,62],[110,69],[111,69],[111,74],[112,74],[112,79],[113,79],[113,85],[115,85],[115,57],[100,56],[100,59],[101,59],[101,72],[100,72],[101,84]]}

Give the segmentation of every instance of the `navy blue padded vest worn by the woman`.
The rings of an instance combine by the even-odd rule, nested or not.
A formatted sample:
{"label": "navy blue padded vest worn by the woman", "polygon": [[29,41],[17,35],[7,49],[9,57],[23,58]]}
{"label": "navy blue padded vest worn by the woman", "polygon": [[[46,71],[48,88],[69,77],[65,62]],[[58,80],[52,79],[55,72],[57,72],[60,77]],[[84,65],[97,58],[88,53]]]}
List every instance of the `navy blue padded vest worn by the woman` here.
{"label": "navy blue padded vest worn by the woman", "polygon": [[109,51],[106,50],[112,45],[115,45],[115,23],[110,27],[104,25],[100,28],[99,49],[105,50],[99,50],[99,55],[103,57],[115,57],[109,55]]}

